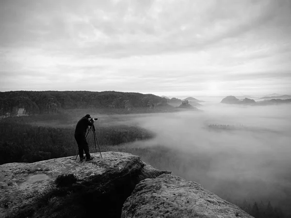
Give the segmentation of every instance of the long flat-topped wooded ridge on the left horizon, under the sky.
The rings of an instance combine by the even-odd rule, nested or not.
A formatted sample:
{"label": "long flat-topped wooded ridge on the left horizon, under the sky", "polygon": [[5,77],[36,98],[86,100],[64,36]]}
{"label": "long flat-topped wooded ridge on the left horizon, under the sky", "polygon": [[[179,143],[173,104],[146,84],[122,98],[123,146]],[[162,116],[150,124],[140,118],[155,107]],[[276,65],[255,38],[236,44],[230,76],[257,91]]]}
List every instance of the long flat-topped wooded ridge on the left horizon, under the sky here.
{"label": "long flat-topped wooded ridge on the left horizon, under the sky", "polygon": [[[27,114],[48,110],[80,108],[152,108],[166,105],[166,98],[154,94],[122,93],[114,91],[10,91],[0,92],[1,115],[24,108]],[[55,111],[53,111],[55,112]]]}

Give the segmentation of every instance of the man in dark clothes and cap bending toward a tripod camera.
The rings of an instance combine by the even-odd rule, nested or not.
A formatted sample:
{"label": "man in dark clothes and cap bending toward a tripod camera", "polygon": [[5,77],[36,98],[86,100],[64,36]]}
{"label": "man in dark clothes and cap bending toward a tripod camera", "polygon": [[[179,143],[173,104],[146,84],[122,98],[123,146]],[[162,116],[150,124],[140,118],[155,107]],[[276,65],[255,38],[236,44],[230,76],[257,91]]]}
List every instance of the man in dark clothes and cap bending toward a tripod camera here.
{"label": "man in dark clothes and cap bending toward a tripod camera", "polygon": [[[86,114],[86,116],[82,117],[81,120],[76,125],[75,129],[75,139],[78,144],[79,149],[79,156],[80,160],[83,161],[85,158],[86,160],[92,160],[94,157],[90,156],[89,153],[89,146],[86,140],[86,131],[88,126],[92,126],[94,124],[94,119],[91,119],[90,114]],[[84,157],[83,151],[85,152],[86,156]]]}

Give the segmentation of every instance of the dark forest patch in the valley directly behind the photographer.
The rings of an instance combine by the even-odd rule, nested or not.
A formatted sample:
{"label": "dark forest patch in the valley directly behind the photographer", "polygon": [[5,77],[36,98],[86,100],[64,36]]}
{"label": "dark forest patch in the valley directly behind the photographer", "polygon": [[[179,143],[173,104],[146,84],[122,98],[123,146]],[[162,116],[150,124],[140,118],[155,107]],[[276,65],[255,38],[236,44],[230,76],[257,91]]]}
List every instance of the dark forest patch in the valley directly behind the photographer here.
{"label": "dark forest patch in the valley directly behind the photographer", "polygon": [[[74,127],[36,126],[25,123],[20,118],[3,119],[0,121],[0,164],[74,156],[77,154],[74,131]],[[101,126],[96,129],[96,133],[102,146],[144,140],[153,136],[145,129],[126,125]],[[93,132],[89,132],[87,140],[90,151],[95,152]]]}

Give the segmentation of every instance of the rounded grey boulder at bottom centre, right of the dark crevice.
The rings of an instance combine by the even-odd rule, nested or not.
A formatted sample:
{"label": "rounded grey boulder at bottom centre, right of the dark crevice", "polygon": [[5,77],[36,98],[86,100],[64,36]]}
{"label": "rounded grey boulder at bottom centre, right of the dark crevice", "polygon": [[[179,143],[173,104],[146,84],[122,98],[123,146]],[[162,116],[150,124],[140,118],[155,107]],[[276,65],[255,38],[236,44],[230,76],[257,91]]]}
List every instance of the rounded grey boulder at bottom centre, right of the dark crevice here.
{"label": "rounded grey boulder at bottom centre, right of the dark crevice", "polygon": [[162,174],[141,181],[122,208],[122,218],[252,218],[201,185]]}

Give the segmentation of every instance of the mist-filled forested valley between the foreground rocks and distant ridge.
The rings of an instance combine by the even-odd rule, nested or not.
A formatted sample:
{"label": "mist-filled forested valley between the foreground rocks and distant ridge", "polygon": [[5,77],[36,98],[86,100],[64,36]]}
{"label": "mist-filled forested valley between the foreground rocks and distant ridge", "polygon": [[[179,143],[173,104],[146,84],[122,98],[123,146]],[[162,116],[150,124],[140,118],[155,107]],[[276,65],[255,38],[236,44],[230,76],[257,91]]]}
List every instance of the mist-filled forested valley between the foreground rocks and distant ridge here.
{"label": "mist-filled forested valley between the foreground rocks and distant ridge", "polygon": [[[15,162],[77,155],[74,128],[82,116],[90,113],[98,118],[95,127],[102,152],[138,155],[154,168],[200,183],[251,215],[257,207],[268,208],[271,203],[276,213],[283,211],[285,217],[289,216],[291,106],[204,102],[199,109],[143,114],[103,114],[97,109],[76,109],[6,118],[1,121],[1,134],[6,141],[2,142],[1,156],[9,156],[8,146],[21,150],[14,151],[14,156],[20,158]],[[28,138],[37,146],[34,150],[40,150],[35,153],[40,159],[24,157],[25,149],[19,144]],[[98,153],[93,134],[87,139],[90,152]],[[53,144],[57,147],[51,148]],[[33,150],[34,145],[31,148],[30,145],[26,147],[28,152]]]}

